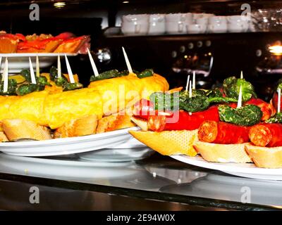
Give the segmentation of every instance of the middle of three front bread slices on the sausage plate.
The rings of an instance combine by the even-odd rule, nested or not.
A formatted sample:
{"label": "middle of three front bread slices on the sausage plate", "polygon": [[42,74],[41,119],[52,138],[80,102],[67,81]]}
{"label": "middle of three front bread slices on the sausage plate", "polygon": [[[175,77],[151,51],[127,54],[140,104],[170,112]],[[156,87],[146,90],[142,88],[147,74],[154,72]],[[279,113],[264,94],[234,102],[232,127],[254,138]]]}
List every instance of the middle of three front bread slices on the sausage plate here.
{"label": "middle of three front bread slices on the sausage plate", "polygon": [[246,143],[220,144],[197,141],[194,148],[209,162],[252,162],[245,152]]}

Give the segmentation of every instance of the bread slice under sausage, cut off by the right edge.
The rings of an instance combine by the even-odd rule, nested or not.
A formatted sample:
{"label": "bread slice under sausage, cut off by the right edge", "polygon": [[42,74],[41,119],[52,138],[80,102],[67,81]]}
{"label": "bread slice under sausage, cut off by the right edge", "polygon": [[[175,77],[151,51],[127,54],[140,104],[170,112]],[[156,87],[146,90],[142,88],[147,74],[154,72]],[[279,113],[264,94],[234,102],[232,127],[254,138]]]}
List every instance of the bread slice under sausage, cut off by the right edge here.
{"label": "bread slice under sausage, cut off by the right edge", "polygon": [[245,146],[245,150],[257,167],[282,168],[282,146],[269,148],[249,143]]}

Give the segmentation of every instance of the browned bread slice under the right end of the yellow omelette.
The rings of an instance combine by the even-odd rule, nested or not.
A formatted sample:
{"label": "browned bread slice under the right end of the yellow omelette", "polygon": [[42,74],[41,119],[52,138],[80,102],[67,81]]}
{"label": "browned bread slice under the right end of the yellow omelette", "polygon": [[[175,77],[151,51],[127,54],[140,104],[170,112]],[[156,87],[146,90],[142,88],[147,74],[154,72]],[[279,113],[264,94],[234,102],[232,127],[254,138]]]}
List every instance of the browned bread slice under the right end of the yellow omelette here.
{"label": "browned bread slice under the right end of the yellow omelette", "polygon": [[135,124],[130,120],[130,115],[118,115],[116,113],[99,120],[97,134],[128,127],[135,127]]}

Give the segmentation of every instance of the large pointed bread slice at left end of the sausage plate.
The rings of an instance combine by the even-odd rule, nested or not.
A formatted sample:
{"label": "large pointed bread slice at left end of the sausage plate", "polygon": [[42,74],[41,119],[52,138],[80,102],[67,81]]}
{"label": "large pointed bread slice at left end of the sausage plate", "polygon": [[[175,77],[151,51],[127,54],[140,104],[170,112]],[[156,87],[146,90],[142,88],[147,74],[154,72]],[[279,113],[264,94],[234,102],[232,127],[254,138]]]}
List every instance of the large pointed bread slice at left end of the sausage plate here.
{"label": "large pointed bread slice at left end of the sausage plate", "polygon": [[197,155],[193,148],[197,140],[197,129],[192,131],[129,131],[138,141],[156,150],[162,155],[184,154],[189,156]]}

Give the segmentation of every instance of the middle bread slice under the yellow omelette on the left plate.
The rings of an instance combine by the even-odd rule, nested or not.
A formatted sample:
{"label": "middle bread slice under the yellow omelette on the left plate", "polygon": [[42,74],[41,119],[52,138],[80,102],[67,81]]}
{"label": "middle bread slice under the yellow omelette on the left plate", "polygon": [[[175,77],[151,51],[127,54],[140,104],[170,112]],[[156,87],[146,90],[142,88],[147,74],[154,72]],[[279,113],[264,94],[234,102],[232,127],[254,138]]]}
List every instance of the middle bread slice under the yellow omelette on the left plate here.
{"label": "middle bread slice under the yellow omelette on the left plate", "polygon": [[97,115],[90,115],[71,120],[56,129],[56,131],[54,132],[54,138],[66,138],[95,134],[97,123]]}

